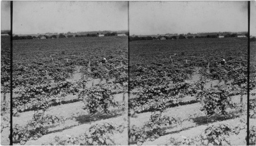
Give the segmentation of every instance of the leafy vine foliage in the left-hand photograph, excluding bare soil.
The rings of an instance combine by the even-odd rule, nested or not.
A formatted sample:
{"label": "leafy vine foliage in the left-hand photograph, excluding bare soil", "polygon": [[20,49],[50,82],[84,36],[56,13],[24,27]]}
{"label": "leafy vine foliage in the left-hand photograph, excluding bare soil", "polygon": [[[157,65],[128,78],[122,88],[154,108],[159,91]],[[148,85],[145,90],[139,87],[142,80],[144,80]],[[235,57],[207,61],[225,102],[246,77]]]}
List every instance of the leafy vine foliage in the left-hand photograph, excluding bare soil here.
{"label": "leafy vine foliage in the left-hand photograph, excluding bare soil", "polygon": [[[106,39],[108,40],[108,38]],[[84,48],[81,50],[78,47],[72,50],[73,45],[70,46],[72,49],[65,47],[58,48],[61,51],[56,51],[56,48],[49,50],[53,47],[52,45],[39,43],[36,48],[28,50],[28,46],[23,45],[23,41],[14,41],[16,54],[13,59],[13,87],[17,97],[13,101],[13,113],[14,116],[18,116],[20,112],[34,111],[33,118],[27,125],[15,125],[14,141],[25,144],[28,140],[37,139],[47,134],[49,125],[56,126],[58,123],[64,123],[67,117],[55,116],[47,114],[47,112],[53,105],[61,105],[71,94],[77,95],[78,101],[83,101],[83,109],[88,112],[90,117],[96,113],[111,114],[111,107],[125,107],[124,104],[114,100],[114,94],[127,92],[127,48],[121,45],[122,41],[123,39],[118,39],[117,46],[113,45],[112,48],[101,50],[104,52],[104,57],[108,59],[104,64],[99,63],[102,53],[100,54],[98,50],[90,47],[86,48],[86,50],[89,49],[86,54],[84,54]],[[80,69],[79,66],[82,68]],[[78,81],[72,79],[74,72],[77,71],[76,68],[79,68],[79,73],[82,74],[82,79]],[[106,83],[92,87],[86,86],[90,81],[98,78],[101,81],[105,80]],[[101,131],[102,128],[105,130]],[[96,132],[106,133],[106,139],[103,138],[104,142],[100,143],[94,139],[98,144],[113,144],[113,137],[111,133],[108,135],[107,131],[111,132],[118,128],[111,128],[106,124],[96,126],[94,129]],[[89,135],[84,134],[83,136]],[[72,140],[71,137],[69,139]],[[98,140],[101,141],[101,139]],[[87,141],[87,144],[90,142],[91,140]]]}

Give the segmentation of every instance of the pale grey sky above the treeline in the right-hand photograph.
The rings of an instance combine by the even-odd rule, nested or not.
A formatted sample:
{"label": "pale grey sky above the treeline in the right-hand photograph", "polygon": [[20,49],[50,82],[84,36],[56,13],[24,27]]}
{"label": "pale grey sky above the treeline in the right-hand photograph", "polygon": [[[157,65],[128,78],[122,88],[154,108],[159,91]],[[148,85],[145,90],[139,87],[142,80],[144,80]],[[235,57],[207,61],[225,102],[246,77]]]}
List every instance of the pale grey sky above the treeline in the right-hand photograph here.
{"label": "pale grey sky above the treeline in the right-hand photograph", "polygon": [[[256,18],[256,5],[252,3]],[[243,1],[130,2],[129,5],[130,35],[248,31],[247,2]],[[251,22],[256,24],[255,19]],[[255,35],[256,28],[251,29]]]}

